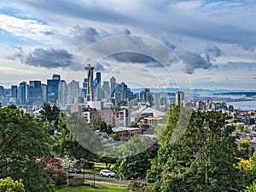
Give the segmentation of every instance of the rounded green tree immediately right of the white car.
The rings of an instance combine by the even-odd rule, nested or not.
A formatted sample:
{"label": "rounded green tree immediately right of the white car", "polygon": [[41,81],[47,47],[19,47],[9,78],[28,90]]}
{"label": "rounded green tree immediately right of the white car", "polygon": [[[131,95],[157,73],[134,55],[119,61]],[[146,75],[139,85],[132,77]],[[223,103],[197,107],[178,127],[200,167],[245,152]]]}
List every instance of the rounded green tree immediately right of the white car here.
{"label": "rounded green tree immediately right of the white car", "polygon": [[149,155],[146,146],[140,138],[133,137],[119,148],[122,158],[114,164],[115,177],[119,179],[145,178],[150,167]]}

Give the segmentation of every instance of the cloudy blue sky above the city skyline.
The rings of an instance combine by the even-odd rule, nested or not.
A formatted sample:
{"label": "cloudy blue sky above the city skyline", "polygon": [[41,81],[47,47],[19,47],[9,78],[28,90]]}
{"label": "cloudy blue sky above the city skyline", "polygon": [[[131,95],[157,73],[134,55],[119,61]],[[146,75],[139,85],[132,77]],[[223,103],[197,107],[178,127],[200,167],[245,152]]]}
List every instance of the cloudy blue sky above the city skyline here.
{"label": "cloudy blue sky above the city skyline", "polygon": [[131,88],[255,90],[254,0],[0,2],[0,85],[82,82],[84,65]]}

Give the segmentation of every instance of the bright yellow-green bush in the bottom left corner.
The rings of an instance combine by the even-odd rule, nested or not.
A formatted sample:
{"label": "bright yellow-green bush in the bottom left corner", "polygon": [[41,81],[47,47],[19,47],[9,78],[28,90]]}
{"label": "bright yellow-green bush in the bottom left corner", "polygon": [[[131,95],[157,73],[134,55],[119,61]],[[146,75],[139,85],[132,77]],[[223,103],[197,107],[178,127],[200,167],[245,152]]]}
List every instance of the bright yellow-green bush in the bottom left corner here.
{"label": "bright yellow-green bush in the bottom left corner", "polygon": [[12,178],[0,178],[0,191],[6,192],[25,192],[22,179],[14,181]]}

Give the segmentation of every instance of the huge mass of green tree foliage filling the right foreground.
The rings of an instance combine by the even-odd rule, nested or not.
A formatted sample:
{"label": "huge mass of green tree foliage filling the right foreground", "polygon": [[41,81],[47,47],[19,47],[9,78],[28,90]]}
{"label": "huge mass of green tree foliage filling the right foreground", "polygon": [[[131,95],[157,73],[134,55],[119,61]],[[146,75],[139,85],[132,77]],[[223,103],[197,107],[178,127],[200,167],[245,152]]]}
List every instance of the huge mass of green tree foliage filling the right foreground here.
{"label": "huge mass of green tree foliage filling the right foreground", "polygon": [[189,126],[177,119],[189,112],[175,106],[160,136],[160,150],[148,170],[156,191],[226,191],[240,187],[234,165],[238,152],[234,127],[224,127],[226,116],[217,111],[193,111]]}

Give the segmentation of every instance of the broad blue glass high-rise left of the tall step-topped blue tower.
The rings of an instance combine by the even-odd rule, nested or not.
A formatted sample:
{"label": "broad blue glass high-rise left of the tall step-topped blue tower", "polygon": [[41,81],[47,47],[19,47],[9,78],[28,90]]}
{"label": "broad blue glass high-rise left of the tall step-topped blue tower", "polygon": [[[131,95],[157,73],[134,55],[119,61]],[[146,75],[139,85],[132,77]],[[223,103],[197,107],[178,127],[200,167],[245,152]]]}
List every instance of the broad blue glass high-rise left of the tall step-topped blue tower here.
{"label": "broad blue glass high-rise left of the tall step-topped blue tower", "polygon": [[42,104],[42,87],[41,81],[29,81],[28,103]]}

